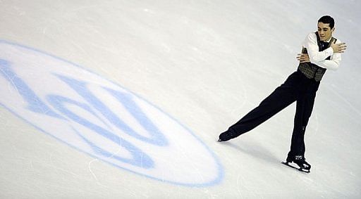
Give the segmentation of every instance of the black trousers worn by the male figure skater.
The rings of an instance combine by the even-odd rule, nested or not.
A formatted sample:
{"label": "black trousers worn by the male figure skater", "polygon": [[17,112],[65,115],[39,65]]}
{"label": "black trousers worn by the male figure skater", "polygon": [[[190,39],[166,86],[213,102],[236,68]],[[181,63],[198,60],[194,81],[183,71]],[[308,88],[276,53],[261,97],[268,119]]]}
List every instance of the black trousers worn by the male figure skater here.
{"label": "black trousers worn by the male figure skater", "polygon": [[319,82],[308,79],[300,71],[293,72],[257,108],[229,127],[237,136],[265,122],[291,103],[297,101],[293,134],[288,156],[305,155],[305,130],[312,113]]}

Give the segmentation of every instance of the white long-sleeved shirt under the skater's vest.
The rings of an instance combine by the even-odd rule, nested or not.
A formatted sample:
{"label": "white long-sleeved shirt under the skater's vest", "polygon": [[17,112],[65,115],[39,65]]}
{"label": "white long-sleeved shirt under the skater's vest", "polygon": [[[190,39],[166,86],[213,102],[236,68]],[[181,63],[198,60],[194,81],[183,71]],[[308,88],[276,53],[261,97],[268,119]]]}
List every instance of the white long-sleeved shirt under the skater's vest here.
{"label": "white long-sleeved shirt under the skater's vest", "polygon": [[[337,39],[336,44],[339,43],[341,43],[341,41]],[[334,50],[331,47],[324,51],[319,51],[317,36],[314,32],[307,35],[305,41],[303,42],[303,46],[307,49],[311,63],[329,70],[338,69],[338,66],[341,63],[341,53],[334,53]],[[326,60],[329,56],[331,56],[331,60]]]}

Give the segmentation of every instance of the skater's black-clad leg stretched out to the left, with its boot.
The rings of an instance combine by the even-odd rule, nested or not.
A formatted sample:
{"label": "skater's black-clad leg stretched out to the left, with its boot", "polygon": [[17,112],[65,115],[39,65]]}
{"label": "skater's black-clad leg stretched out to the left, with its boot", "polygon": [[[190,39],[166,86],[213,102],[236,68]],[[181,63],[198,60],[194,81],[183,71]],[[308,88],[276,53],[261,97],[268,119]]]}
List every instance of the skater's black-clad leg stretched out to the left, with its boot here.
{"label": "skater's black-clad leg stretched out to the left, with its boot", "polygon": [[298,83],[298,72],[294,72],[286,82],[274,90],[257,108],[247,113],[233,124],[227,131],[219,135],[219,141],[228,141],[262,124],[270,117],[279,113],[296,100],[295,86]]}

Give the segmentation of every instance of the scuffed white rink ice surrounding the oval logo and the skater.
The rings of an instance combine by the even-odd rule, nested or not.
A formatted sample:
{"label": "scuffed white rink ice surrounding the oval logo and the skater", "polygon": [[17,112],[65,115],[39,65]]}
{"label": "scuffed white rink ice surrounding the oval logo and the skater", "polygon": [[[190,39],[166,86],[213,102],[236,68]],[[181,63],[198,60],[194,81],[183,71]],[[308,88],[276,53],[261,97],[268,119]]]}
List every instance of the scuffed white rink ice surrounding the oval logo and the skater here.
{"label": "scuffed white rink ice surrounding the oval logo and the skater", "polygon": [[[43,134],[0,106],[0,198],[360,197],[360,9],[353,0],[0,0],[2,41],[76,63],[145,98],[190,129],[224,174],[201,187],[135,174]],[[334,37],[348,49],[317,92],[305,137],[311,173],[280,164],[295,103],[237,139],[216,142],[296,70],[301,43],[322,15],[335,18]],[[194,167],[176,169],[202,163],[192,161]]]}

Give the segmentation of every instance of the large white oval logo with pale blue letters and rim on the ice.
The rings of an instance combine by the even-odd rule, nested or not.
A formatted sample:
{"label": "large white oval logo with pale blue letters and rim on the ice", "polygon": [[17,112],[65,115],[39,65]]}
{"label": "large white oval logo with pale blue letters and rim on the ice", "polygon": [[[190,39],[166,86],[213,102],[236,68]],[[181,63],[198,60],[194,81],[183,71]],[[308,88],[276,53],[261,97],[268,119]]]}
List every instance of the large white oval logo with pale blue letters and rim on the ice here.
{"label": "large white oval logo with pale blue letters and rim on the ice", "polygon": [[217,184],[223,170],[183,125],[78,65],[0,41],[0,104],[115,167],[185,186]]}

